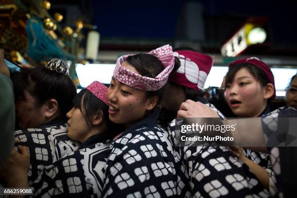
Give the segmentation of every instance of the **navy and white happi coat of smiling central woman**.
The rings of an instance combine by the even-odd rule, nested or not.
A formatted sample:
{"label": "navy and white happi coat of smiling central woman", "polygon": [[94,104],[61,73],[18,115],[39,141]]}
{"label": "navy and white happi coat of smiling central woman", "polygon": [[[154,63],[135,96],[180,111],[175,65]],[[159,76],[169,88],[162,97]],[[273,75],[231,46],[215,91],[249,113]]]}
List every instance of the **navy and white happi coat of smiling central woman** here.
{"label": "navy and white happi coat of smiling central woman", "polygon": [[186,172],[169,133],[157,125],[159,110],[112,141],[103,197],[189,197]]}

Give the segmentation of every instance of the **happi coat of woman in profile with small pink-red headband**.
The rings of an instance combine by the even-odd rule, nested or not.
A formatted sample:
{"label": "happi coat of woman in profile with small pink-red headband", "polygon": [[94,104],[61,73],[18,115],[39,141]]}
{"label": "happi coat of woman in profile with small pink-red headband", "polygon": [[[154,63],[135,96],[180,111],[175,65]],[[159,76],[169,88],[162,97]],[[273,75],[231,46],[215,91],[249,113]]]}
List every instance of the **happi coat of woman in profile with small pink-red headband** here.
{"label": "happi coat of woman in profile with small pink-red headband", "polygon": [[40,174],[31,187],[34,197],[100,198],[110,140],[106,133],[89,137]]}

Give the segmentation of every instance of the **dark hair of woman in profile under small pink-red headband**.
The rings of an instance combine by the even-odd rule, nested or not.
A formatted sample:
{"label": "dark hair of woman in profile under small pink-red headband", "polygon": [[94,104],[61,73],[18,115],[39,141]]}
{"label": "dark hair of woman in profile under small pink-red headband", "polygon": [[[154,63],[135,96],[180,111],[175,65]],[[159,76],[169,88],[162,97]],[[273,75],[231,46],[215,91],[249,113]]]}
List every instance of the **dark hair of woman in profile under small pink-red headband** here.
{"label": "dark hair of woman in profile under small pink-red headband", "polygon": [[119,132],[122,132],[124,129],[122,125],[115,124],[110,121],[108,114],[108,105],[98,99],[92,92],[87,89],[82,89],[74,97],[73,105],[81,110],[89,130],[91,130],[93,126],[92,117],[98,111],[101,111],[103,114],[103,119],[107,124],[110,138],[115,137],[115,135],[117,135]]}

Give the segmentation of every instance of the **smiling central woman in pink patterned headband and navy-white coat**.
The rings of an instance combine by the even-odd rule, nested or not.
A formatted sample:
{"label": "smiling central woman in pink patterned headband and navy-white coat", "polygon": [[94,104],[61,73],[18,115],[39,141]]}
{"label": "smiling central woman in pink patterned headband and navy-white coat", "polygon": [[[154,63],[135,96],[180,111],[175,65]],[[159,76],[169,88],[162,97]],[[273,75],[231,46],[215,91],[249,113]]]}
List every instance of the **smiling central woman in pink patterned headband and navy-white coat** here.
{"label": "smiling central woman in pink patterned headband and navy-white coat", "polygon": [[107,91],[110,120],[126,130],[107,161],[105,197],[187,197],[189,184],[168,132],[157,125],[174,66],[169,45],[120,57]]}

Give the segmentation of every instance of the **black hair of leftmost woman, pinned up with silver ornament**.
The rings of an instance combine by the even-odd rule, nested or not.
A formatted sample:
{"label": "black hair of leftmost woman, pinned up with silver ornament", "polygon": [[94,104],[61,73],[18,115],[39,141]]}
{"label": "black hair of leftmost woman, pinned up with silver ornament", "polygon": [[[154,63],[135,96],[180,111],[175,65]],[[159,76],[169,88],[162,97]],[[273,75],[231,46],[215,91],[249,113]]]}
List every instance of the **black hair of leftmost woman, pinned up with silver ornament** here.
{"label": "black hair of leftmost woman, pinned up with silver ornament", "polygon": [[45,67],[22,69],[13,79],[15,99],[24,98],[28,91],[41,106],[49,99],[56,99],[61,115],[72,108],[72,99],[76,95],[74,82],[63,74],[51,71]]}

